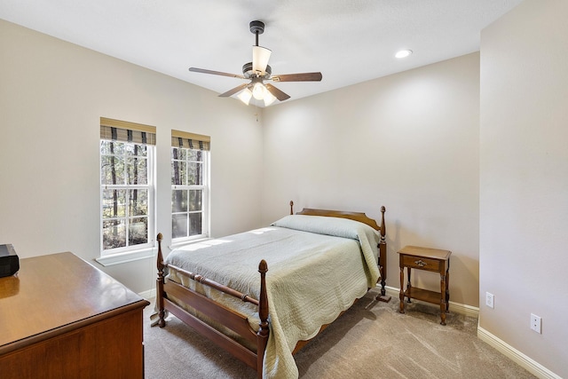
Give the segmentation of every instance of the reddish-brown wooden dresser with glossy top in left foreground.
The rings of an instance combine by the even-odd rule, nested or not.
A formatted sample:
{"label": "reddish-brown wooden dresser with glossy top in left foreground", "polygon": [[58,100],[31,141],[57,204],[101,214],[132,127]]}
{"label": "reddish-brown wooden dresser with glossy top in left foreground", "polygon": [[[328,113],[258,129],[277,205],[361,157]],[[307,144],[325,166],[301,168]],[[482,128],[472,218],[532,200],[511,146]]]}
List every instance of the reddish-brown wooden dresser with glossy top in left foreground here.
{"label": "reddish-brown wooden dresser with glossy top in left foreground", "polygon": [[0,278],[0,377],[143,378],[149,304],[71,253]]}

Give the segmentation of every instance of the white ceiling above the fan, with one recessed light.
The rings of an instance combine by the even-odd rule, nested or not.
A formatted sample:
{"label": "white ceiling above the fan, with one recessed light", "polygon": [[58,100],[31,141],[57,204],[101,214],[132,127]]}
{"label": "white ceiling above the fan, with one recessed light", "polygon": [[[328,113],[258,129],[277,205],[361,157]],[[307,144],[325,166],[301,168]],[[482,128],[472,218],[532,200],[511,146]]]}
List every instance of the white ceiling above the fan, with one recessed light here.
{"label": "white ceiling above the fan, with one recessed light", "polygon": [[[319,71],[321,82],[276,83],[292,99],[479,50],[481,29],[522,0],[2,0],[0,19],[223,93],[241,79],[255,36],[272,74]],[[400,49],[414,53],[396,59]],[[289,99],[287,101],[291,101]]]}

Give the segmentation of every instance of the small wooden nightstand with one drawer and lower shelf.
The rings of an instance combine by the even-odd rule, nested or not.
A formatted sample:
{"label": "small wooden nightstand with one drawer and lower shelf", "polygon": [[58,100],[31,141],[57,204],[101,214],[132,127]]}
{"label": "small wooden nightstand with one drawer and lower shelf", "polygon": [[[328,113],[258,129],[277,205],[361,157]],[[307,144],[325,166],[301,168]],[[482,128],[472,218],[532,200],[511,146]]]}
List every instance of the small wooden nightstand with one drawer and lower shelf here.
{"label": "small wooden nightstand with one drawer and lower shelf", "polygon": [[[440,305],[440,324],[446,325],[446,312],[450,301],[450,256],[451,251],[440,249],[421,248],[418,246],[405,246],[398,251],[400,258],[400,313],[405,312],[405,297],[418,299],[424,302]],[[405,267],[408,272],[408,282],[405,284]],[[412,269],[440,274],[440,292],[428,289],[414,288],[410,284],[410,274]]]}

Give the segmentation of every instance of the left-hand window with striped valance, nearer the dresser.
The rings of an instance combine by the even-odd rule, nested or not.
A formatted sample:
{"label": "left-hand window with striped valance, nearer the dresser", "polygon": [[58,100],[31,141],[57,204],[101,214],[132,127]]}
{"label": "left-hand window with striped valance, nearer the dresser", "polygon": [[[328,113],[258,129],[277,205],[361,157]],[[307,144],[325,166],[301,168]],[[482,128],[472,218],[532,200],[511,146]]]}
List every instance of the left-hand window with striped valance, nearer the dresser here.
{"label": "left-hand window with striped valance, nearer the dresser", "polygon": [[100,119],[101,256],[154,240],[155,128]]}

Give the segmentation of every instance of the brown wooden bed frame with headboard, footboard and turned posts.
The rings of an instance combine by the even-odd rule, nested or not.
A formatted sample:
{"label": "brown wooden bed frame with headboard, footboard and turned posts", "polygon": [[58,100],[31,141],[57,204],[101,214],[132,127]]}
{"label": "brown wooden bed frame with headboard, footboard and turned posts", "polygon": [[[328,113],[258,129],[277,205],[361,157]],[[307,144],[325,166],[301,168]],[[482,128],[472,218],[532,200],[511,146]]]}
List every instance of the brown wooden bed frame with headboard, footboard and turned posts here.
{"label": "brown wooden bed frame with headboard, footboard and turned posts", "polygon": [[[290,201],[290,215],[294,215],[293,205],[293,201]],[[385,240],[386,229],[384,224],[384,212],[385,208],[382,207],[381,225],[377,225],[376,221],[367,217],[365,213],[359,212],[328,209],[303,209],[301,212],[297,212],[296,215],[348,218],[359,221],[365,225],[369,225],[375,229],[375,231],[380,234],[377,247],[381,293],[377,296],[377,300],[388,302],[390,301],[390,296],[386,296],[385,292],[387,244]],[[270,335],[269,300],[266,290],[268,265],[264,259],[261,260],[258,265],[258,272],[260,273],[260,294],[257,296],[258,298],[254,298],[253,296],[241,293],[238,290],[218,283],[215,280],[210,280],[198,272],[189,272],[180,267],[164,262],[162,255],[162,233],[158,234],[157,239],[158,278],[156,282],[156,307],[159,318],[158,325],[161,328],[165,327],[166,312],[171,312],[179,320],[184,321],[185,324],[194,328],[202,336],[208,337],[211,342],[216,343],[219,347],[225,349],[225,351],[233,354],[235,358],[240,359],[249,367],[254,368],[258,377],[262,378],[264,352]],[[217,303],[194,288],[187,288],[173,280],[168,280],[165,275],[165,271],[167,269],[175,270],[177,275],[183,275],[186,278],[189,278],[189,280],[194,280],[194,282],[199,283],[201,286],[206,286],[209,290],[220,291],[223,294],[233,296],[244,303],[252,304],[254,307],[257,307],[258,319],[260,320],[257,330],[250,327],[250,323],[246,315],[241,314],[240,312],[235,312],[233,309],[225,306],[224,304]],[[352,300],[353,303],[357,301],[356,298]],[[232,333],[238,335],[239,338],[227,336],[226,333],[219,331],[219,328],[211,326],[214,325],[214,323],[209,321],[205,322],[202,317],[197,317],[194,312],[188,312],[186,310],[186,305],[189,305],[193,310],[199,312],[199,314],[205,315],[207,320],[213,320],[214,323],[222,324],[224,328],[230,329]],[[321,326],[321,328],[319,328],[319,332],[327,328],[327,325]],[[296,351],[299,351],[306,343],[308,343],[308,341],[299,341],[292,353],[294,354]],[[251,348],[251,346],[253,347]]]}

